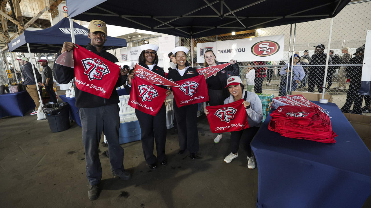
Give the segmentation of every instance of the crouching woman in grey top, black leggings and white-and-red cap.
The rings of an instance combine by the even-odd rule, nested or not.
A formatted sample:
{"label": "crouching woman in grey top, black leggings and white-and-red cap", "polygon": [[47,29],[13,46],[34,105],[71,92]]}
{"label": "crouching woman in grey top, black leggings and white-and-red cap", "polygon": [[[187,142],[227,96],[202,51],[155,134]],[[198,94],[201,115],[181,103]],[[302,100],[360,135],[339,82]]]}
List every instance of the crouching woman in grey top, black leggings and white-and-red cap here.
{"label": "crouching woman in grey top, black leggings and white-and-red cap", "polygon": [[[247,153],[247,167],[250,169],[255,168],[255,159],[252,154],[250,142],[255,136],[256,132],[259,130],[260,123],[263,120],[263,108],[262,101],[257,94],[252,92],[244,91],[244,86],[240,77],[233,76],[231,81],[227,81],[227,88],[229,90],[229,97],[224,100],[224,104],[233,103],[234,101],[243,99],[243,106],[246,108],[247,121],[249,123],[249,128],[245,128],[240,131],[232,131],[229,149],[231,153],[224,158],[224,162],[230,163],[234,158],[238,157],[238,150],[240,143],[244,151]],[[205,110],[205,114],[209,114],[208,110]]]}

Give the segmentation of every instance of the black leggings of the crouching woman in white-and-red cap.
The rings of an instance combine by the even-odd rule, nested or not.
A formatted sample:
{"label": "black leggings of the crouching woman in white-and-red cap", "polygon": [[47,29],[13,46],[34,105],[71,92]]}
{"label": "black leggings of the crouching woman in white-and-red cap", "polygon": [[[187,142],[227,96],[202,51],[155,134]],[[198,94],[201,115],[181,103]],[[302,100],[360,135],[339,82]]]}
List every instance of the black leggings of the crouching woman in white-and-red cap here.
{"label": "black leggings of the crouching woman in white-and-red cap", "polygon": [[250,142],[253,140],[256,132],[259,130],[259,127],[250,127],[245,128],[241,131],[232,131],[231,132],[231,140],[229,142],[230,150],[233,154],[238,152],[238,148],[240,146],[240,142],[242,144],[243,149],[247,153],[247,157],[251,157],[251,147]]}

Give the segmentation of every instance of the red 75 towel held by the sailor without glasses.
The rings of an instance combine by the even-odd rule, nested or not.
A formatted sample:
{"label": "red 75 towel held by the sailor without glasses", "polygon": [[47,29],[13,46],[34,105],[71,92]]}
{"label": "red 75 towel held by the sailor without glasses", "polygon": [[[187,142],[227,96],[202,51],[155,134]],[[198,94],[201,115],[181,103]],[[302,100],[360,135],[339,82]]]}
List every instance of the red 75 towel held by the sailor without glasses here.
{"label": "red 75 towel held by the sailor without glasses", "polygon": [[205,76],[198,75],[175,83],[180,87],[173,87],[171,90],[178,107],[209,101]]}

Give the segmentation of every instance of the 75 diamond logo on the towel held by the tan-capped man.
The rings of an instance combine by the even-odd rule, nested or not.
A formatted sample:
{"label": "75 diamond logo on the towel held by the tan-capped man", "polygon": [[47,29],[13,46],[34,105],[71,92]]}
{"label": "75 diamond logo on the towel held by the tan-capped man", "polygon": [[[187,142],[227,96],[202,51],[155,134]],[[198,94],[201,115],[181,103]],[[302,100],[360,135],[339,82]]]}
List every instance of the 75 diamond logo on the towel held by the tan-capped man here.
{"label": "75 diamond logo on the towel held by the tan-capped man", "polygon": [[85,58],[82,61],[82,65],[85,68],[84,74],[89,77],[89,80],[101,80],[105,74],[109,73],[108,67],[98,58]]}

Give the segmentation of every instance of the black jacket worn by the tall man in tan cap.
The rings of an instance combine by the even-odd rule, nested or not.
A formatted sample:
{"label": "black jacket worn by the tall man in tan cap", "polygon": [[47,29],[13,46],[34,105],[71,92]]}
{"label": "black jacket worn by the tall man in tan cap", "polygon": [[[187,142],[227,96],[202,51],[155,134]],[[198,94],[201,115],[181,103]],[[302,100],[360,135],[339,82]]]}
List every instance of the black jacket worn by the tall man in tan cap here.
{"label": "black jacket worn by the tall man in tan cap", "polygon": [[[100,52],[96,50],[94,46],[91,44],[88,44],[86,49],[90,50],[91,52],[97,54],[98,56],[101,56],[113,63],[118,62],[117,58],[108,53],[106,50],[107,48],[104,47]],[[56,59],[58,56],[60,56],[60,51],[58,51],[58,54],[56,56]],[[53,66],[53,75],[55,80],[60,84],[68,84],[73,78],[75,78],[75,71],[73,68],[62,66],[59,64],[56,64],[54,61]],[[109,99],[102,98],[90,93],[86,93],[84,91],[79,90],[79,88],[75,87],[75,97],[76,97],[76,107],[78,108],[93,108],[93,107],[100,107],[104,105],[110,105],[119,103],[118,94],[116,91],[116,87],[120,87],[121,85],[124,85],[126,81],[127,75],[121,76],[121,74],[118,77],[118,80],[116,82],[115,88],[112,90],[111,97]]]}

